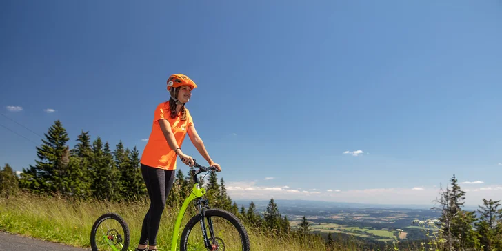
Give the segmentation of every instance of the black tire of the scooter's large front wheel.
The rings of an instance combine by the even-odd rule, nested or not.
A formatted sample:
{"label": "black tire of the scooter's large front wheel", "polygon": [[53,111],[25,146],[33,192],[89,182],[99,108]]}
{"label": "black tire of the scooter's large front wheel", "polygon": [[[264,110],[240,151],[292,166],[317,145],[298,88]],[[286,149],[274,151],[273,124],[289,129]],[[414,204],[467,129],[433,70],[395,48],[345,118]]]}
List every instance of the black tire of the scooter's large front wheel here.
{"label": "black tire of the scooter's large front wheel", "polygon": [[[237,232],[239,232],[243,251],[249,251],[250,250],[250,240],[248,237],[248,231],[245,230],[244,225],[239,221],[239,219],[232,214],[231,212],[228,212],[226,210],[222,210],[219,208],[212,208],[208,209],[205,211],[205,217],[212,217],[212,216],[217,216],[217,217],[222,217],[223,219],[228,220],[232,225],[234,225],[234,228],[237,229]],[[201,219],[201,216],[199,214],[195,215],[186,223],[185,228],[183,229],[183,233],[181,234],[181,243],[180,243],[180,251],[187,251],[187,241],[188,241],[188,235],[192,231],[192,228],[194,228],[195,225],[199,224],[199,220]]]}

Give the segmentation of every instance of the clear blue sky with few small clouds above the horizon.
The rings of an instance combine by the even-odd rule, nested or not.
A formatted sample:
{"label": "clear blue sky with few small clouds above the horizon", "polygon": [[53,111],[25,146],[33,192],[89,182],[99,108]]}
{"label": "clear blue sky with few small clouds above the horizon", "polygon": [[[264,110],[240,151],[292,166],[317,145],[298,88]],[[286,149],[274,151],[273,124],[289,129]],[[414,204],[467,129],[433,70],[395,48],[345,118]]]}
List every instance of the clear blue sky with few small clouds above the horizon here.
{"label": "clear blue sky with few small clouds above the horizon", "polygon": [[[501,7],[2,1],[1,114],[141,152],[183,73],[233,199],[427,204],[455,174],[476,205],[502,199]],[[1,127],[0,161],[21,170],[41,138],[10,119],[30,141]]]}

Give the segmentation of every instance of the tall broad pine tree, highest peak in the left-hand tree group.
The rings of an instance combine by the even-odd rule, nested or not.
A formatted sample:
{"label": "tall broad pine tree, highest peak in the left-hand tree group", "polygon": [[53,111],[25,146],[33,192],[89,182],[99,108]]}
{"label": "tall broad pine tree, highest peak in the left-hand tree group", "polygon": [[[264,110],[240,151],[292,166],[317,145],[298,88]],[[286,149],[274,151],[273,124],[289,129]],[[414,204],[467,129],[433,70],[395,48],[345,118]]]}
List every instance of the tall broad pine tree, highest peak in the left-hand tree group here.
{"label": "tall broad pine tree, highest peak in the left-hand tree group", "polygon": [[20,185],[34,193],[64,194],[68,185],[69,159],[63,157],[68,152],[68,133],[63,123],[57,120],[44,136],[43,144],[36,148],[39,160],[35,160],[35,165],[30,165],[30,168],[23,168]]}

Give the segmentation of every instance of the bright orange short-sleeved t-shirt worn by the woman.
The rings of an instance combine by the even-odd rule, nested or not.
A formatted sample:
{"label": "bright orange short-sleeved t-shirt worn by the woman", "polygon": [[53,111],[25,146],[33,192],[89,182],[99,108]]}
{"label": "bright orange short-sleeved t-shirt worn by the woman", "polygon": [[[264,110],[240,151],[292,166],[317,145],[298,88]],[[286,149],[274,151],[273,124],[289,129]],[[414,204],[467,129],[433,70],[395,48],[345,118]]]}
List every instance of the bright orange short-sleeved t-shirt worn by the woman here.
{"label": "bright orange short-sleeved t-shirt worn by the woman", "polygon": [[141,155],[141,163],[143,165],[165,170],[176,169],[177,154],[174,153],[174,150],[172,150],[168,144],[168,140],[165,139],[161,126],[159,125],[159,119],[167,119],[169,121],[174,138],[180,148],[183,144],[183,139],[185,139],[188,127],[193,125],[193,120],[188,109],[186,109],[185,121],[181,121],[181,112],[175,119],[171,119],[170,113],[169,101],[160,103],[155,109],[152,132],[150,132],[148,143],[146,143],[143,154]]}

